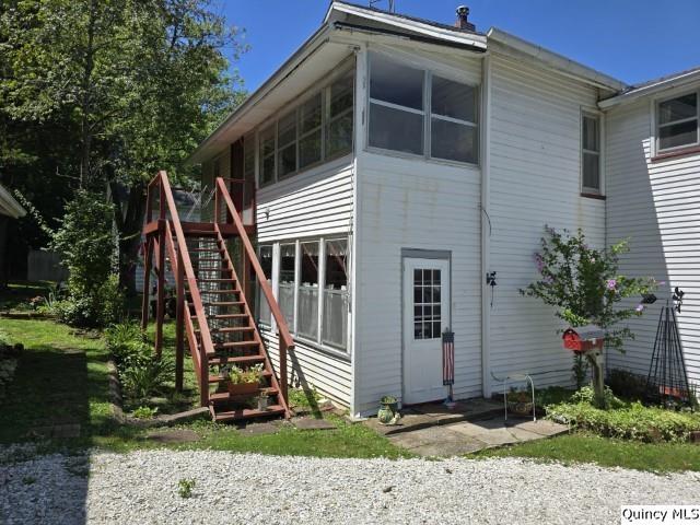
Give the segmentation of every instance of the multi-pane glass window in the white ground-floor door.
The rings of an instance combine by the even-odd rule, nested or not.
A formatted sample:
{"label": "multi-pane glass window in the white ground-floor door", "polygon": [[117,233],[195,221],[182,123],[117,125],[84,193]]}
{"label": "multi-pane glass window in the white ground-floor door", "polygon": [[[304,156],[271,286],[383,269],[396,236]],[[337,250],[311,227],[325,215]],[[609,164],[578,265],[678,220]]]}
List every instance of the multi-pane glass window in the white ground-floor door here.
{"label": "multi-pane glass window in the white ground-floor door", "polygon": [[413,338],[436,339],[442,332],[440,269],[413,270]]}

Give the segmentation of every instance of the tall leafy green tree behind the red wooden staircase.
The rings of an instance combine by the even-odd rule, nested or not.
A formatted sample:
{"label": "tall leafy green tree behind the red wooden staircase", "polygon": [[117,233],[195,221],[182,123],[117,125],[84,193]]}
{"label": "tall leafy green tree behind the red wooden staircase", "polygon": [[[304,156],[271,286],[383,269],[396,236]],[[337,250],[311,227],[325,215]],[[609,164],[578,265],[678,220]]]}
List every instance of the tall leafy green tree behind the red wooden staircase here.
{"label": "tall leafy green tree behind the red wooden staircase", "polygon": [[207,0],[16,0],[0,13],[4,113],[68,118],[66,176],[110,188],[130,291],[147,182],[163,168],[191,176],[184,159],[240,102],[228,72],[245,50],[238,35]]}

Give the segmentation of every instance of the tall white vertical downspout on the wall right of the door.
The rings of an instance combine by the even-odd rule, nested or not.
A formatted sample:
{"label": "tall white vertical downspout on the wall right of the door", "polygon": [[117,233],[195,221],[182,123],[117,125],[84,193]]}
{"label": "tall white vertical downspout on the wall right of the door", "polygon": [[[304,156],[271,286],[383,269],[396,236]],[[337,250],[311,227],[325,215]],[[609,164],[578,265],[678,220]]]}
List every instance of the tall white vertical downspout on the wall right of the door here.
{"label": "tall white vertical downspout on the wall right of the door", "polygon": [[491,303],[486,275],[490,271],[491,250],[491,54],[481,63],[481,390],[491,397]]}

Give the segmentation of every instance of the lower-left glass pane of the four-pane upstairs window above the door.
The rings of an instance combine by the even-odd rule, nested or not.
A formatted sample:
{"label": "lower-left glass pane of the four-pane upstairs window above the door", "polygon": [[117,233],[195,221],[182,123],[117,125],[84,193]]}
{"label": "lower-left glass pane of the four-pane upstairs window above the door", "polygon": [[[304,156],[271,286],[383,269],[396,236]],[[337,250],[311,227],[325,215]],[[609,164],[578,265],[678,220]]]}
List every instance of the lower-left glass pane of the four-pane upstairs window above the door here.
{"label": "lower-left glass pane of the four-pane upstairs window above the door", "polygon": [[423,116],[371,104],[370,145],[421,155],[423,153]]}

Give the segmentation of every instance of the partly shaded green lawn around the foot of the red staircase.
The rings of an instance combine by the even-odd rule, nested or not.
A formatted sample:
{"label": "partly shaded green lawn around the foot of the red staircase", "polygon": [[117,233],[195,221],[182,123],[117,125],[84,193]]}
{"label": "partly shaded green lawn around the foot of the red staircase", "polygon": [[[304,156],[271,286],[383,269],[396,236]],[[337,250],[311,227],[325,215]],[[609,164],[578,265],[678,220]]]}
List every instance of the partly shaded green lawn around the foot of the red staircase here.
{"label": "partly shaded green lawn around the foot of the red staircase", "polygon": [[[3,318],[0,326],[11,340],[25,346],[10,393],[0,405],[0,444],[39,440],[42,451],[95,446],[116,452],[165,446],[145,440],[148,431],[117,424],[112,418],[107,351],[101,338],[79,335],[50,320]],[[172,352],[172,325],[166,326],[164,334],[165,351]],[[196,380],[188,355],[185,363],[186,392],[165,411],[196,402]],[[173,393],[171,383],[166,385],[166,395]],[[299,394],[294,397],[298,402],[304,398]],[[300,431],[283,427],[275,434],[257,436],[246,435],[229,424],[195,421],[183,428],[198,432],[200,441],[167,446],[326,457],[409,456],[364,425],[350,424],[335,416],[328,418],[337,425],[336,430]],[[65,423],[81,424],[81,436],[44,441],[37,435],[37,429]]]}

